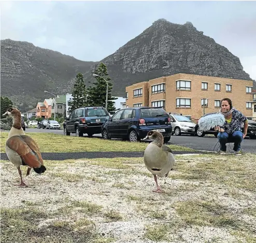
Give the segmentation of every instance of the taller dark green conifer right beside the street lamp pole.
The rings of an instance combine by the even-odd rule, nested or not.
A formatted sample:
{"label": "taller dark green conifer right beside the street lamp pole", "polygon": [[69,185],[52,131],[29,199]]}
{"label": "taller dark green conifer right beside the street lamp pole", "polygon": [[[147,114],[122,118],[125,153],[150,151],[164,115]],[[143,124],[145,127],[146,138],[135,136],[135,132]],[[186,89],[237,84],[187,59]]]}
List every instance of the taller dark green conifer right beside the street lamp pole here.
{"label": "taller dark green conifer right beside the street lamp pole", "polygon": [[[95,74],[104,77],[108,81],[108,112],[115,111],[116,108],[114,106],[114,102],[112,100],[116,100],[111,96],[111,90],[113,85],[109,82],[111,79],[108,77],[107,66],[103,63],[99,64],[96,70],[94,71]],[[103,78],[95,77],[96,82],[92,83],[93,86],[88,88],[88,105],[90,106],[102,106],[105,107],[106,105],[106,94],[107,94],[107,83]]]}

